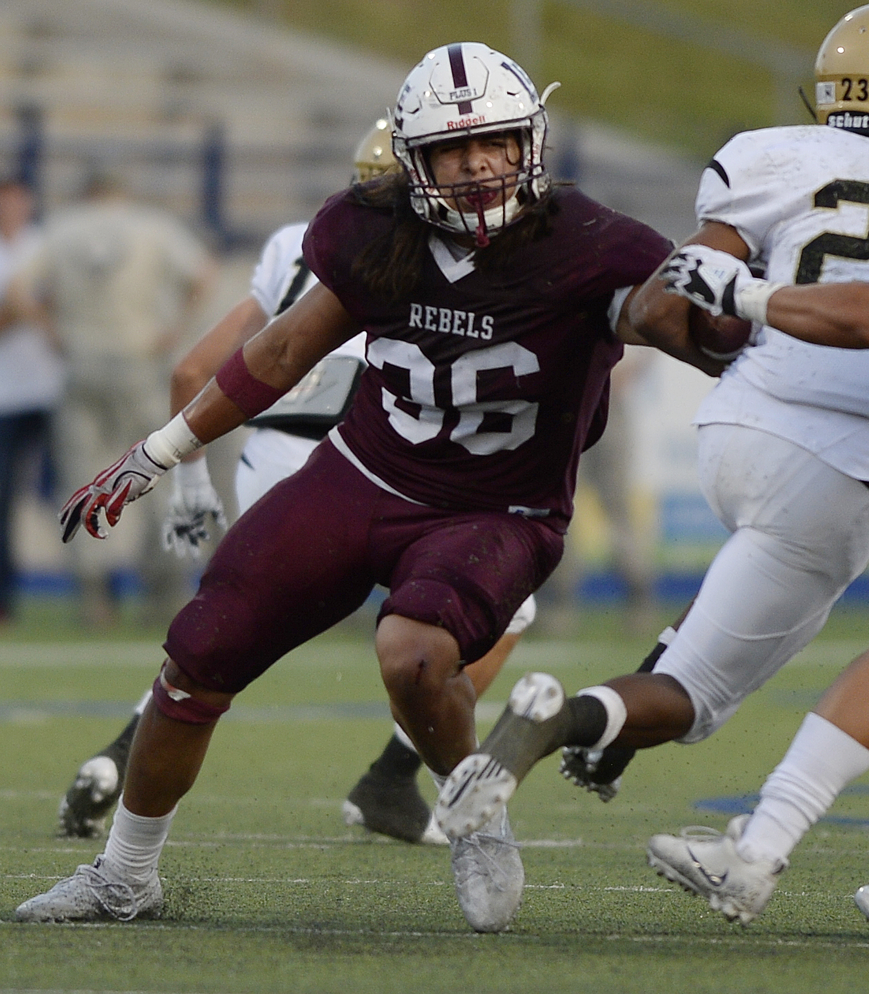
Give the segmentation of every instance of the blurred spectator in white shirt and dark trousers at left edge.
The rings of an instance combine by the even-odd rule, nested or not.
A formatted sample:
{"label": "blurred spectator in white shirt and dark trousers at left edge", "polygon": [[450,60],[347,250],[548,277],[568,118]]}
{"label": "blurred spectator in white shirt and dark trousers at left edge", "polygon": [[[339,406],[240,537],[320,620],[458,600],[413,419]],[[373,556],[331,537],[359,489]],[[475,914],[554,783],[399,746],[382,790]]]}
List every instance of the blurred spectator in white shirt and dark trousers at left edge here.
{"label": "blurred spectator in white shirt and dark trousers at left edge", "polygon": [[64,364],[44,329],[22,320],[7,290],[37,250],[34,200],[17,179],[0,180],[0,623],[13,612],[12,506],[37,466],[45,481],[52,415],[61,400]]}

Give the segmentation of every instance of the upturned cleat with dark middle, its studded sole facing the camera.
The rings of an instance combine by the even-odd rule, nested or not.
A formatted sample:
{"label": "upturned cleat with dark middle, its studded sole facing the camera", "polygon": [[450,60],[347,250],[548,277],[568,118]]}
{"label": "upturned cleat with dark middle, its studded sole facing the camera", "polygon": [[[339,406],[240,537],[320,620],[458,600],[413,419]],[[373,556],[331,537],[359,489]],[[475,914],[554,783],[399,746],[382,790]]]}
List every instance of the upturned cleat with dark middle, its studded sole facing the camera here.
{"label": "upturned cleat with dark middle, its studded sole facing the camera", "polygon": [[561,684],[547,673],[518,681],[480,751],[466,756],[441,789],[435,818],[448,838],[470,835],[495,818],[531,766],[563,744],[564,701]]}

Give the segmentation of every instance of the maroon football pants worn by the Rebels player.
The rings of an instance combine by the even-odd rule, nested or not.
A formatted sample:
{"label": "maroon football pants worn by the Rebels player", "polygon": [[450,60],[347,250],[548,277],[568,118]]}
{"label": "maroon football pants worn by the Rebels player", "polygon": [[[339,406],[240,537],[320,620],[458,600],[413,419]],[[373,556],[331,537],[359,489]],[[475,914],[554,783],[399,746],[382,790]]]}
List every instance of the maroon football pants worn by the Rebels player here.
{"label": "maroon football pants worn by the Rebels player", "polygon": [[562,536],[538,521],[413,504],[324,441],[227,532],[165,648],[193,680],[236,693],[290,649],[360,607],[446,628],[479,659],[549,576]]}

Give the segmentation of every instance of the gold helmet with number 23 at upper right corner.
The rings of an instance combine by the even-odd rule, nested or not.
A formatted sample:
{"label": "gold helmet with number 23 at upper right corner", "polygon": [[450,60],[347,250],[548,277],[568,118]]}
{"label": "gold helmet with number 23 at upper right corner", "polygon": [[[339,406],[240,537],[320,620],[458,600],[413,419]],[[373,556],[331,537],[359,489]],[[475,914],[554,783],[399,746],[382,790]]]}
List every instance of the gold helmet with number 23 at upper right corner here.
{"label": "gold helmet with number 23 at upper right corner", "polygon": [[819,124],[869,131],[869,4],[845,16],[814,61]]}

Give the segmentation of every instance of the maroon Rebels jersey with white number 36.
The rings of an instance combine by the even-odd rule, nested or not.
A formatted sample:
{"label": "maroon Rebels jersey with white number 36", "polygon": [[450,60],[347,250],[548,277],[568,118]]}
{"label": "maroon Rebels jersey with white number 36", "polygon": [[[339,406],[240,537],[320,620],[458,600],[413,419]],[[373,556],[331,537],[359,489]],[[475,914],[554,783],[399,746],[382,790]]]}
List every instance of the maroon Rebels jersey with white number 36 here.
{"label": "maroon Rebels jersey with white number 36", "polygon": [[555,196],[551,232],[506,268],[451,282],[429,251],[420,288],[392,304],[352,272],[388,230],[387,213],[343,193],[308,228],[305,260],[367,332],[368,367],[337,430],[362,466],[411,500],[567,527],[579,453],[606,422],[622,357],[607,308],[670,247],[578,191]]}

